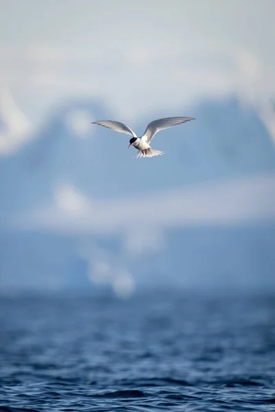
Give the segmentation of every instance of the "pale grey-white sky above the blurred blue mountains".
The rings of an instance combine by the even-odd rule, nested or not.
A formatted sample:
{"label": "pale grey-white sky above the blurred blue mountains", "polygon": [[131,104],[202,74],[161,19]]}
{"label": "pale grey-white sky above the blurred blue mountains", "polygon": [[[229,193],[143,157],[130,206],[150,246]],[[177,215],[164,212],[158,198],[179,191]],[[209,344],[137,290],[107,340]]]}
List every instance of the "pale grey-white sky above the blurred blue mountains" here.
{"label": "pale grey-white sky above the blurred blue mountains", "polygon": [[102,99],[134,125],[234,94],[275,135],[273,0],[0,0],[0,10],[0,91],[23,130],[75,97]]}

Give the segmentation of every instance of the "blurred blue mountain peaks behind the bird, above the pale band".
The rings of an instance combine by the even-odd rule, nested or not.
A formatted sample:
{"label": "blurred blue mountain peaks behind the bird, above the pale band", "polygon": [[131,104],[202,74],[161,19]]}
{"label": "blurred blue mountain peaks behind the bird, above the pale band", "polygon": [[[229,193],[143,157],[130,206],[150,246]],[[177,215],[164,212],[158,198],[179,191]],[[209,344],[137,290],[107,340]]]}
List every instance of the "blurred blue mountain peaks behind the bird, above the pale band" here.
{"label": "blurred blue mountain peaks behind the bird, above the pale band", "polygon": [[[89,196],[113,198],[275,170],[274,145],[265,126],[236,100],[175,113],[196,120],[159,133],[152,146],[167,155],[151,161],[132,159],[135,149],[127,150],[127,135],[91,125],[79,137],[69,118],[81,112],[90,113],[91,121],[112,117],[94,102],[68,104],[47,119],[32,141],[0,158],[0,210],[41,205],[63,183]],[[149,120],[130,126],[142,134]]]}

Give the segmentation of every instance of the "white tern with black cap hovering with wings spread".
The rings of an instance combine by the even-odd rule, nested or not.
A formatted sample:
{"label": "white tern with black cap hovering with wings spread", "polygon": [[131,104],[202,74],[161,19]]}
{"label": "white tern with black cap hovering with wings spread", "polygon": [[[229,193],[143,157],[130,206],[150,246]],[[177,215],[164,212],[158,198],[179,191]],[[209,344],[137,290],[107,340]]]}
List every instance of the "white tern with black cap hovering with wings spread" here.
{"label": "white tern with black cap hovering with wings spread", "polygon": [[97,120],[96,122],[91,122],[91,124],[99,124],[100,126],[111,128],[116,132],[130,135],[131,139],[129,141],[128,148],[133,146],[138,150],[134,157],[153,157],[164,155],[164,152],[153,149],[150,146],[151,140],[155,134],[160,130],[177,126],[177,124],[189,122],[190,120],[195,120],[195,117],[166,117],[164,119],[153,120],[153,122],[148,124],[144,134],[141,137],[137,137],[131,128],[121,122],[116,122],[115,120]]}

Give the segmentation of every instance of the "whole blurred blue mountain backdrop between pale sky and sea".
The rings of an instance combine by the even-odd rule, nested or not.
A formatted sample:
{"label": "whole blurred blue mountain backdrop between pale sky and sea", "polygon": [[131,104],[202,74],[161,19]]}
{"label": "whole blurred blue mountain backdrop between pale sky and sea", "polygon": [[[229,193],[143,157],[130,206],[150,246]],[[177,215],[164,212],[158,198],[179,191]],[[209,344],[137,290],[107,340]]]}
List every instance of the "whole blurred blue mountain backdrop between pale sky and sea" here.
{"label": "whole blurred blue mountain backdrop between pale sky and sea", "polygon": [[[3,293],[274,288],[270,129],[234,97],[174,115],[196,120],[159,133],[153,147],[167,154],[157,159],[132,159],[127,137],[92,126],[114,116],[88,98],[0,157]],[[129,126],[141,134],[155,117]]]}

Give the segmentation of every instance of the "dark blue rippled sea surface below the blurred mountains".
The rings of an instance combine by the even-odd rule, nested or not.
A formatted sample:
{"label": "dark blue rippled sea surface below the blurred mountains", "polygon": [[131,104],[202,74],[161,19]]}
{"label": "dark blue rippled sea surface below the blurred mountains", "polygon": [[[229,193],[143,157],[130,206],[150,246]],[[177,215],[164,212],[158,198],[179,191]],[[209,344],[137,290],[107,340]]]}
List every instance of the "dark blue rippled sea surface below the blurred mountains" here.
{"label": "dark blue rippled sea surface below the blurred mountains", "polygon": [[274,411],[275,299],[1,298],[0,411]]}

